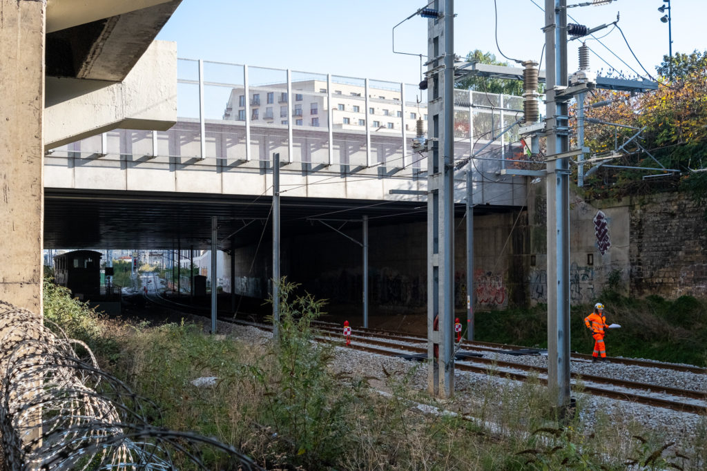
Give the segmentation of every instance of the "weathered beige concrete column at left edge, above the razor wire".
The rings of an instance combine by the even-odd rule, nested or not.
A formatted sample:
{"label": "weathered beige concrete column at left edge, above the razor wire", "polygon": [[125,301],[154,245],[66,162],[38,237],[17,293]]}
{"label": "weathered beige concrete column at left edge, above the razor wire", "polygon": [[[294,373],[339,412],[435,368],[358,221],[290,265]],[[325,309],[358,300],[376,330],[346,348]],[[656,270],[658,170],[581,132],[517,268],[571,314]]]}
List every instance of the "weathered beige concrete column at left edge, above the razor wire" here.
{"label": "weathered beige concrete column at left edge, above the razor wire", "polygon": [[0,0],[0,300],[42,312],[44,1]]}

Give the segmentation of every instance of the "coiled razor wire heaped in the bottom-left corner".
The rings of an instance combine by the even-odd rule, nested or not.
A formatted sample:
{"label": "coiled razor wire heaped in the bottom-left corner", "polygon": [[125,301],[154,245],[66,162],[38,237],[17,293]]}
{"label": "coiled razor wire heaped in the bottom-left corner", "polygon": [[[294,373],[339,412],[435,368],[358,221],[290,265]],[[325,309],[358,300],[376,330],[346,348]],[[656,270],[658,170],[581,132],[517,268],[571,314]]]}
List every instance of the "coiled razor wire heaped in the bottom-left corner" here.
{"label": "coiled razor wire heaped in the bottom-left corner", "polygon": [[215,438],[152,426],[156,405],[44,322],[0,301],[1,470],[161,471],[176,470],[175,460],[207,470],[206,448],[227,456],[228,469],[262,470]]}

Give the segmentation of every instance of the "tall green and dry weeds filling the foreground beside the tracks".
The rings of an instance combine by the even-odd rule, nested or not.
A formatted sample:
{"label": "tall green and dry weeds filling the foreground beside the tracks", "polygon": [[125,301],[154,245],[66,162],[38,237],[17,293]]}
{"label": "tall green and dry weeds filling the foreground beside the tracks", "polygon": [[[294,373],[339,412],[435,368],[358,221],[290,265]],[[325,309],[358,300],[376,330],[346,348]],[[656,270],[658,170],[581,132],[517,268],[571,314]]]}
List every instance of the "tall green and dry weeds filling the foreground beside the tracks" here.
{"label": "tall green and dry weeds filling the foreground beside the tracks", "polygon": [[[71,325],[99,344],[114,342],[102,350],[105,368],[156,402],[163,417],[156,425],[215,436],[268,469],[625,470],[635,462],[636,469],[698,470],[705,463],[704,426],[693,443],[669,444],[631,417],[591,410],[582,395],[572,419],[559,422],[537,378],[458,376],[464,393],[438,402],[418,385],[423,368],[383,367],[372,388],[372,377],[334,368],[332,359],[350,350],[315,342],[310,322],[322,302],[295,291],[281,284],[276,342],[208,335],[185,322],[105,328],[107,320],[83,309]],[[67,301],[54,301],[45,308],[64,315]],[[217,380],[192,385],[203,376]],[[204,459],[213,470],[235,469],[216,453]]]}

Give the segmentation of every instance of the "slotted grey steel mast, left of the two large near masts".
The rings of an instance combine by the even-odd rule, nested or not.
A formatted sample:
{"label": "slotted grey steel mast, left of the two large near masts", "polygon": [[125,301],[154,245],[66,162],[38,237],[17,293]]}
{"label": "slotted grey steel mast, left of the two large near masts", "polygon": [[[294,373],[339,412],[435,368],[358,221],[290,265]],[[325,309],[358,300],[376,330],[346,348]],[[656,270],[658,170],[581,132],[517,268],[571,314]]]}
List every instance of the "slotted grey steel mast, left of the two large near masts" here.
{"label": "slotted grey steel mast, left of the two large near masts", "polygon": [[428,20],[428,390],[446,398],[454,392],[454,1],[431,6],[440,15]]}

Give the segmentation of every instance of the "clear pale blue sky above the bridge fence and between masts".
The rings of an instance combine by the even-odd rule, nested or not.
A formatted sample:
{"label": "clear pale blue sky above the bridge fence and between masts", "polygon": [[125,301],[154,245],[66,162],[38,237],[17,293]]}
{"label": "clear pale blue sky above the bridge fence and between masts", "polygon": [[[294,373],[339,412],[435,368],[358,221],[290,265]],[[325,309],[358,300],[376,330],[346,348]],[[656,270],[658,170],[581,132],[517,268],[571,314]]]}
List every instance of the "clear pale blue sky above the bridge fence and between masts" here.
{"label": "clear pale blue sky above the bridge fence and between masts", "polygon": [[[533,1],[544,6],[544,0],[496,0],[498,45],[508,57],[540,57],[544,13]],[[667,24],[660,22],[662,14],[657,11],[663,4],[662,0],[615,0],[568,11],[590,28],[611,23],[620,12],[619,26],[653,74],[668,50]],[[392,28],[421,6],[423,2],[410,0],[183,0],[158,39],[177,42],[183,58],[417,83],[419,57],[392,52]],[[493,0],[457,0],[455,13],[457,55],[480,49],[503,59],[494,38]],[[707,49],[705,18],[707,1],[672,0],[673,52]],[[402,52],[426,54],[426,40],[427,21],[419,16],[395,30],[395,49]],[[619,30],[601,41],[611,51],[589,40],[590,48],[603,59],[592,54],[592,69],[606,71],[608,62],[626,74],[633,75],[629,67],[643,73]],[[570,71],[577,68],[577,47],[573,41],[568,48]]]}

